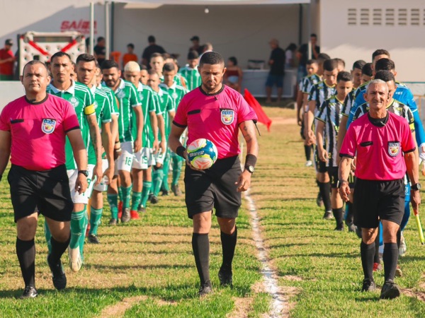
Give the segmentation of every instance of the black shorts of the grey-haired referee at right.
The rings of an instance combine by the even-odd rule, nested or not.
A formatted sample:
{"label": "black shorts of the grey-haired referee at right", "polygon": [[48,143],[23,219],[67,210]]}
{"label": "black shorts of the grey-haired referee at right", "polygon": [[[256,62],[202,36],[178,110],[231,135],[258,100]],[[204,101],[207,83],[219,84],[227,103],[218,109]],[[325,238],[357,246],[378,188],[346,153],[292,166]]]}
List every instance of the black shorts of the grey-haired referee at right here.
{"label": "black shorts of the grey-haired referee at right", "polygon": [[354,224],[378,228],[379,220],[400,225],[404,215],[403,179],[375,181],[356,178],[354,185]]}

